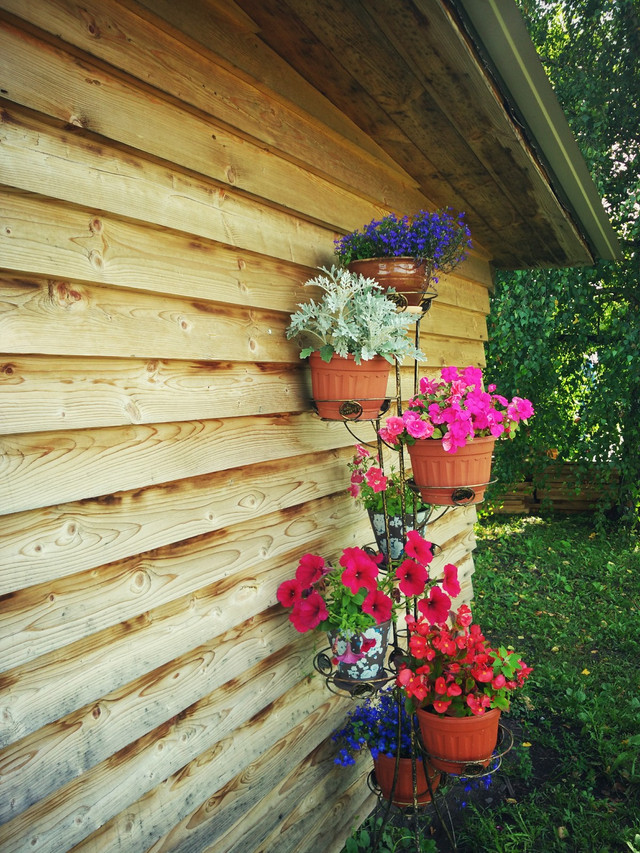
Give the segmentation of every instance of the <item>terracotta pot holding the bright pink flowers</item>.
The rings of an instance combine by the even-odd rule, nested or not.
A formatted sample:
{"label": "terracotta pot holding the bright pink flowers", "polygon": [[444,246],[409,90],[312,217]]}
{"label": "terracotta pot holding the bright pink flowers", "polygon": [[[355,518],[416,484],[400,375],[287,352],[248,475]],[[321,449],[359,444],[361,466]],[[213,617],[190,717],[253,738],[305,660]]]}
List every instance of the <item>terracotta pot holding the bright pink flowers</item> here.
{"label": "terracotta pot holding the bright pink flowers", "polygon": [[440,439],[426,438],[408,445],[413,479],[422,500],[437,506],[483,501],[495,442],[493,436],[474,438],[455,453],[447,453]]}

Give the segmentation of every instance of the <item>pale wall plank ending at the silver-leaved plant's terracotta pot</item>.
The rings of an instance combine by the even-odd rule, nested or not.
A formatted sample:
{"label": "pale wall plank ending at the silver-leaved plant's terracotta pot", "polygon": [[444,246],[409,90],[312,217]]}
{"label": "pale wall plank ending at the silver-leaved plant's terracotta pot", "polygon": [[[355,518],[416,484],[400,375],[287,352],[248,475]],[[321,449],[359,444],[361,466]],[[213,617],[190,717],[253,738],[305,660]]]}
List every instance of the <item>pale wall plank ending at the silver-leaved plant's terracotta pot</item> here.
{"label": "pale wall plank ending at the silver-leaved plant's terracotta pot", "polygon": [[0,356],[0,434],[303,411],[305,363]]}

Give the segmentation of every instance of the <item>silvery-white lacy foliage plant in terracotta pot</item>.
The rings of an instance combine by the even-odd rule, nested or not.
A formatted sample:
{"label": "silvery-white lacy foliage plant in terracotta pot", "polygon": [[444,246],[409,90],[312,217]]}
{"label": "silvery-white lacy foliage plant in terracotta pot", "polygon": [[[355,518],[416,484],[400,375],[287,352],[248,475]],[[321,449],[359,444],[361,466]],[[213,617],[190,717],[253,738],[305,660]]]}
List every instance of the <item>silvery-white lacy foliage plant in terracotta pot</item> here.
{"label": "silvery-white lacy foliage plant in terracotta pot", "polygon": [[302,347],[300,358],[317,351],[327,362],[334,354],[353,355],[356,364],[376,355],[391,364],[405,357],[425,360],[407,334],[415,317],[398,311],[374,279],[336,266],[321,267],[321,273],[305,287],[321,288],[322,297],[299,305],[287,329],[287,338],[297,338]]}

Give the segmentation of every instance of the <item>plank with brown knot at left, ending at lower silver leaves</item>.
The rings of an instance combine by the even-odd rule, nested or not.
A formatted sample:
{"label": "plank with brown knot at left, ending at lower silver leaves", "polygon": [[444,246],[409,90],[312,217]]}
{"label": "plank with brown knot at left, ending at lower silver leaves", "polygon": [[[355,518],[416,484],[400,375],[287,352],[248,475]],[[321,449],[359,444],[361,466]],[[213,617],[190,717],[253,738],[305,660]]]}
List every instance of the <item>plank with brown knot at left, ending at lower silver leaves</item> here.
{"label": "plank with brown knot at left, ending at lower silver leaves", "polygon": [[[25,263],[28,261],[25,258]],[[73,280],[0,275],[7,353],[295,362],[288,315]]]}

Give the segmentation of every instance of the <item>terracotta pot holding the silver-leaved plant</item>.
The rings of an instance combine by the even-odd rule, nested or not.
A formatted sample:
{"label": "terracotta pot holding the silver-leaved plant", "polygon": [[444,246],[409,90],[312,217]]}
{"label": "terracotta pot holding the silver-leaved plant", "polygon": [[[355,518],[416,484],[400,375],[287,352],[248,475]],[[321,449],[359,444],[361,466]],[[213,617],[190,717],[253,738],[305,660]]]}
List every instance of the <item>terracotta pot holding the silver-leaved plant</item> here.
{"label": "terracotta pot holding the silver-leaved plant", "polygon": [[[311,393],[321,418],[373,420],[379,416],[391,369],[381,355],[356,364],[352,355],[346,358],[334,355],[326,362],[319,352],[312,352],[309,364]],[[355,406],[351,405],[353,402]]]}

